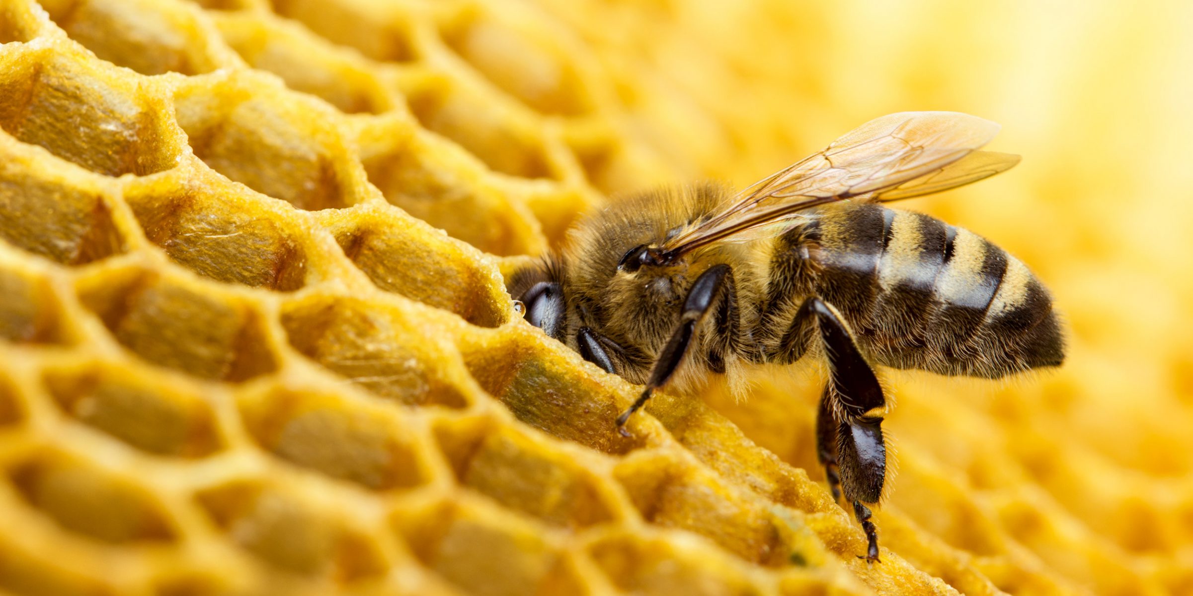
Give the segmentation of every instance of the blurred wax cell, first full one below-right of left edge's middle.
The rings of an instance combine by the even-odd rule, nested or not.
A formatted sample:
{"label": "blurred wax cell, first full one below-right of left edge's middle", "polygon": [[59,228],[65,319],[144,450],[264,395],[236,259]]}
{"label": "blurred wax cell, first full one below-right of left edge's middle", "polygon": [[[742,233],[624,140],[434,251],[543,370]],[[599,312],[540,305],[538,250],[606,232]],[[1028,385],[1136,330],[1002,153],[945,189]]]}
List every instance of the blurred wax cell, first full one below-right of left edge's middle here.
{"label": "blurred wax cell, first full one below-right of left edge's middle", "polygon": [[202,458],[222,447],[211,405],[177,381],[106,362],[49,368],[42,379],[67,416],[137,449]]}

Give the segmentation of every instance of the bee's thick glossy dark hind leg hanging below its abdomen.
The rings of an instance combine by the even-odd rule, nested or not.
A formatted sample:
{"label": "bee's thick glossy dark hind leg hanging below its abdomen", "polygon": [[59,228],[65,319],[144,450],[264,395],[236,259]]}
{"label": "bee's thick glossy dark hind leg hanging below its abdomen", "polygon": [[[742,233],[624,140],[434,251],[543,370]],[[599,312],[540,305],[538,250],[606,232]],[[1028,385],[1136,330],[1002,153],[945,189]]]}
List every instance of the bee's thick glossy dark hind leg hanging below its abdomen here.
{"label": "bee's thick glossy dark hind leg hanging below its abdomen", "polygon": [[[798,324],[812,317],[818,323],[832,373],[821,399],[817,442],[822,452],[830,441],[835,443],[841,492],[846,501],[853,503],[854,516],[866,533],[866,554],[859,558],[878,561],[878,530],[870,520],[871,511],[866,504],[878,502],[886,478],[886,443],[883,441],[880,416],[886,401],[874,371],[863,358],[836,310],[812,297],[801,306],[796,321]],[[834,432],[835,437],[830,437]],[[824,459],[821,461],[826,462]],[[833,483],[832,473],[829,483]]]}

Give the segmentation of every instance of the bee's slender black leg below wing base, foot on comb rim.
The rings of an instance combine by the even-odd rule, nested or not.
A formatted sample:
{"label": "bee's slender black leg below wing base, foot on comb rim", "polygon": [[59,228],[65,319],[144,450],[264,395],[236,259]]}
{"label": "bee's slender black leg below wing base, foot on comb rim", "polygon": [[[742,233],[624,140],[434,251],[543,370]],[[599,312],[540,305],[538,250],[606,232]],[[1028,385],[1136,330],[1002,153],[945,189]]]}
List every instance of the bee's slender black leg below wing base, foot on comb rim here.
{"label": "bee's slender black leg below wing base, foot on comb rim", "polygon": [[633,404],[630,405],[630,409],[617,417],[617,428],[623,436],[630,436],[629,432],[624,428],[630,416],[638,411],[647,403],[647,399],[650,399],[650,395],[655,390],[663,386],[670,379],[670,375],[679,368],[680,362],[684,361],[684,354],[687,353],[688,344],[692,342],[692,335],[696,334],[697,323],[704,318],[704,315],[716,303],[717,297],[725,286],[724,283],[728,275],[728,265],[713,265],[696,279],[696,284],[692,284],[692,290],[687,293],[687,299],[684,302],[684,312],[680,316],[679,327],[672,333],[670,340],[667,341],[667,346],[659,354],[659,360],[655,361],[654,368],[650,370],[647,387],[635,399]]}

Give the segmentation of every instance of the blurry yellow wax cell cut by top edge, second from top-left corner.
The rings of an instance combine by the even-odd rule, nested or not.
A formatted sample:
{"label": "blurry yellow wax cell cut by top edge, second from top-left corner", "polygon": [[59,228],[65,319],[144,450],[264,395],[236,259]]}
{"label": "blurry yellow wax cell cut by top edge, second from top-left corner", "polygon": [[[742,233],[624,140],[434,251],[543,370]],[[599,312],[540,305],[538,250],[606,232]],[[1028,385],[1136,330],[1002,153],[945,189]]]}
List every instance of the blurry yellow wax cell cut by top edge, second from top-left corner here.
{"label": "blurry yellow wax cell cut by top edge, second from top-left corner", "polygon": [[218,68],[211,32],[194,14],[146,0],[44,0],[39,2],[72,39],[100,60],[142,74],[187,75]]}

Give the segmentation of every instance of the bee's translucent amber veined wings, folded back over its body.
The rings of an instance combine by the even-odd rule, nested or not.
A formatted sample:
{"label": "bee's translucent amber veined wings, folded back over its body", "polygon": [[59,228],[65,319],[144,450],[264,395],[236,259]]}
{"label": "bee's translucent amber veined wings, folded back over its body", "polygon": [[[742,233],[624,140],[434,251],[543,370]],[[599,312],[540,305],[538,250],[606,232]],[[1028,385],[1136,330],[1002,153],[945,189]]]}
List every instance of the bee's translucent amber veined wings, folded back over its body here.
{"label": "bee's translucent amber veined wings, folded back over its body", "polygon": [[780,230],[771,224],[835,200],[908,199],[976,182],[1019,163],[1018,155],[977,151],[997,132],[997,124],[958,112],[883,116],[754,182],[663,248],[682,254],[759,226]]}

